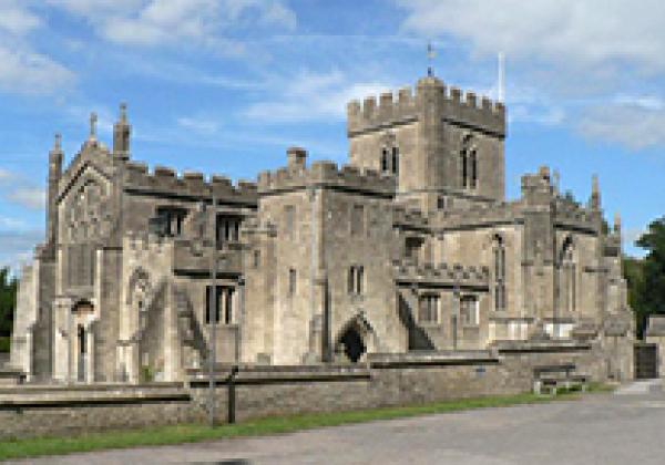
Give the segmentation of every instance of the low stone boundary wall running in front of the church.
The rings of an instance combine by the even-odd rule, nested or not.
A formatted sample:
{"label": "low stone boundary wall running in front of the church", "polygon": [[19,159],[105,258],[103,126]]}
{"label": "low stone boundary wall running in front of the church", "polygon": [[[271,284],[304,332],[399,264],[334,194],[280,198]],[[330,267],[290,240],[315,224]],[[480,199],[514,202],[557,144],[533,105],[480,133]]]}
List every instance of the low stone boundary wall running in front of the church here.
{"label": "low stone boundary wall running in front of the church", "polygon": [[[236,420],[351,411],[529,392],[533,368],[575,363],[607,379],[600,344],[511,343],[492,351],[372,354],[357,365],[243,365],[234,376]],[[217,416],[228,414],[231,371],[219,368]],[[0,441],[204,422],[208,382],[187,385],[24,385],[0,389]]]}

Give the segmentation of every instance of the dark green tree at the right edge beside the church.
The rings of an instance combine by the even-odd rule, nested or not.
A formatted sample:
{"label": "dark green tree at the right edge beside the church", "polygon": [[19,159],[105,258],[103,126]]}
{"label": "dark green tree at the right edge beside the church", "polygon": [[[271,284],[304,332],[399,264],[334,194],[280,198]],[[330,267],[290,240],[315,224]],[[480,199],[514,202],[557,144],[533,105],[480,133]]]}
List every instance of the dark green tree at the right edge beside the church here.
{"label": "dark green tree at the right edge beside the church", "polygon": [[632,299],[635,300],[637,324],[642,324],[643,329],[647,316],[665,313],[665,216],[652,221],[635,244],[647,251],[636,267],[638,270],[632,270],[635,275]]}

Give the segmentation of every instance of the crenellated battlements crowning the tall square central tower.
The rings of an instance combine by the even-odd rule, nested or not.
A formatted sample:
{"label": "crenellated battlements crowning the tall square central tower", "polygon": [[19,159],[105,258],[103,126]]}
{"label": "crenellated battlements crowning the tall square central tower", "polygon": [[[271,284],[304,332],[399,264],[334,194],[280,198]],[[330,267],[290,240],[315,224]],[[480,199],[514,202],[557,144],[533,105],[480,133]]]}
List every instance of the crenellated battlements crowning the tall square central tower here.
{"label": "crenellated battlements crowning the tall square central tower", "polygon": [[348,136],[379,131],[392,125],[416,122],[430,105],[436,105],[441,118],[450,124],[468,126],[505,137],[505,106],[473,92],[462,92],[457,87],[447,90],[437,78],[418,81],[416,92],[411,87],[400,89],[397,99],[392,92],[379,96],[368,96],[362,104],[354,100],[347,104]]}

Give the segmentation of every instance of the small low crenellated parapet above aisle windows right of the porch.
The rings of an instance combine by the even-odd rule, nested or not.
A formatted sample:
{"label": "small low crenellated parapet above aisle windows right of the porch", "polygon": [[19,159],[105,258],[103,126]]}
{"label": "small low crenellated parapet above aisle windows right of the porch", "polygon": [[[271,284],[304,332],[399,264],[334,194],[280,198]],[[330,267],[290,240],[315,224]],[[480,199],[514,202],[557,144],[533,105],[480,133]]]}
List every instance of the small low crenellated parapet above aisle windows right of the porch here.
{"label": "small low crenellated parapet above aisle windows right of the porch", "polygon": [[409,260],[392,262],[395,279],[401,285],[422,285],[460,288],[487,288],[490,280],[488,267],[464,267],[460,264],[417,265]]}

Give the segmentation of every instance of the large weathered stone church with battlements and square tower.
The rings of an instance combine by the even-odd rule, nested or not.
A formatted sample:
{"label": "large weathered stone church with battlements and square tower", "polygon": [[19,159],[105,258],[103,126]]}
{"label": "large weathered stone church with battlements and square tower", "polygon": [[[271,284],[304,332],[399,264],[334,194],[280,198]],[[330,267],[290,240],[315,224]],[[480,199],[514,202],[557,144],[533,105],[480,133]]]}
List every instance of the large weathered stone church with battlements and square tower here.
{"label": "large weathered stone church with battlements and square tower", "polygon": [[347,166],[293,147],[235,185],[132,161],[124,106],[111,148],[94,118],[69,165],[57,137],[11,368],[182,382],[214,320],[218,360],[247,366],[555,339],[598,344],[615,354],[606,378],[631,375],[621,221],[605,225],[597,179],[581,205],[543,167],[507,200],[505,107],[433,76],[347,114]]}

